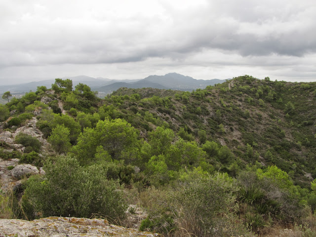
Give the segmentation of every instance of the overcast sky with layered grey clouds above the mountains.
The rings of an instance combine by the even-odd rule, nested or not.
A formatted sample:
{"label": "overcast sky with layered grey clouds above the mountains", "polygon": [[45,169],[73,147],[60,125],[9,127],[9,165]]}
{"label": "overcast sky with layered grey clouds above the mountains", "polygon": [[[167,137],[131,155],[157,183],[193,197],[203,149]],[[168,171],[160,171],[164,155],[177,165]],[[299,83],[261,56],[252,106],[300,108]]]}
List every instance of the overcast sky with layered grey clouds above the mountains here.
{"label": "overcast sky with layered grey clouds above the mountains", "polygon": [[0,84],[171,72],[316,81],[316,1],[0,1]]}

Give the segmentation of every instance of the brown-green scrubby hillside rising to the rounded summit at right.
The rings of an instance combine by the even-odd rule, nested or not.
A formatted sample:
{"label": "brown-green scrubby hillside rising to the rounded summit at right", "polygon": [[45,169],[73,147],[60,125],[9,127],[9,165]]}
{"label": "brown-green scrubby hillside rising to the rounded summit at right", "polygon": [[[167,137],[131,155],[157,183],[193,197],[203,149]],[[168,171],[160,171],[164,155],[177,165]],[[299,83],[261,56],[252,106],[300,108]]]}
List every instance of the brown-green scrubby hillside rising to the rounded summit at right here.
{"label": "brown-green scrubby hillside rising to the rounded summit at right", "polygon": [[[306,173],[316,175],[313,155],[316,152],[315,89],[314,82],[290,83],[239,77],[215,87],[208,86],[205,90],[177,92],[173,97],[165,98],[168,105],[162,101],[141,102],[137,112],[149,111],[155,118],[168,122],[175,131],[184,127],[197,141],[198,131],[204,130],[207,140],[227,145],[244,164],[255,161],[276,164],[286,172],[294,171],[294,165],[293,178],[296,177],[297,184],[304,186],[304,182],[309,182],[304,176]],[[130,94],[128,91],[120,90],[113,96]],[[142,98],[155,95],[144,95],[143,91],[145,89],[133,90]],[[158,91],[156,95],[161,96]],[[111,97],[109,101],[111,103]],[[128,111],[134,107],[127,101],[118,108],[126,109],[122,118],[139,127],[128,119]],[[256,158],[246,156],[247,144]],[[268,151],[273,160],[266,156]]]}

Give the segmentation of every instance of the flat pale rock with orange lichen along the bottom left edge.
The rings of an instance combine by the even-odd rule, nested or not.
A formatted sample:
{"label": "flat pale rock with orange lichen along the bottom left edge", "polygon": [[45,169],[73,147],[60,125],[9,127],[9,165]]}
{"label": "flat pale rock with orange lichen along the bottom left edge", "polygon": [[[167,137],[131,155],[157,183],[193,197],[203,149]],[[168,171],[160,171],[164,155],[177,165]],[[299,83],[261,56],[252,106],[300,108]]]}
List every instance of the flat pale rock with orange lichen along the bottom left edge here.
{"label": "flat pale rock with orange lichen along the bottom left edge", "polygon": [[47,217],[34,221],[0,219],[0,237],[155,237],[158,234],[140,232],[109,224],[104,219]]}

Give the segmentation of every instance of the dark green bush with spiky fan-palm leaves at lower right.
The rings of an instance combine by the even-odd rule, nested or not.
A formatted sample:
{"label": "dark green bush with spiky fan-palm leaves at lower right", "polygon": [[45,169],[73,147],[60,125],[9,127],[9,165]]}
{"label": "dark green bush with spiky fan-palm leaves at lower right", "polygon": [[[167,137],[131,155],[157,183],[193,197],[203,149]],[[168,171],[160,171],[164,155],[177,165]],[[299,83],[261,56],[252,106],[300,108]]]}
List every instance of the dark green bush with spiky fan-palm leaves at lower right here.
{"label": "dark green bush with spiky fan-palm leaves at lower right", "polygon": [[[278,174],[277,177],[280,176]],[[285,188],[284,181],[280,181],[282,186],[279,186],[275,180],[269,177],[261,177],[254,172],[242,172],[237,179],[240,184],[237,199],[240,201],[240,204],[246,203],[250,208],[245,210],[243,214],[251,212],[251,214],[248,213],[247,215],[249,218],[251,217],[250,220],[256,219],[258,221],[256,221],[257,224],[261,217],[255,216],[255,214],[264,216],[263,221],[265,224],[276,220],[289,223],[304,216],[304,210],[299,203],[300,198],[291,194],[291,187],[294,188],[293,185]],[[250,225],[250,223],[245,224]],[[250,225],[250,227],[258,228],[257,224]]]}

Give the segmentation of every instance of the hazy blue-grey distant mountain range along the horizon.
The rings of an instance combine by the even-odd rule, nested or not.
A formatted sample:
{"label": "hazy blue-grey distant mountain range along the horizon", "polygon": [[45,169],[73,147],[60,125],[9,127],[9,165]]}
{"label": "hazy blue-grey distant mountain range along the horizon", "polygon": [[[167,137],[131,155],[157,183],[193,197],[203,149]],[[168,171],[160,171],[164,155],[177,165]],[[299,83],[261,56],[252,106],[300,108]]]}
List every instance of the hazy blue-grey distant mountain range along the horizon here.
{"label": "hazy blue-grey distant mountain range along the horizon", "polygon": [[[152,87],[158,89],[173,89],[192,91],[197,88],[205,88],[207,85],[214,85],[222,83],[226,80],[210,79],[210,80],[197,80],[188,76],[183,76],[177,73],[168,73],[164,76],[149,76],[145,79],[134,79],[134,80],[112,80],[106,78],[91,78],[87,76],[77,77],[64,77],[63,79],[72,79],[73,85],[76,86],[78,83],[87,84],[92,90],[111,93],[118,90],[120,87],[127,88],[143,88]],[[47,88],[51,87],[51,84],[55,82],[55,79],[33,81],[15,85],[1,85],[0,93],[10,91],[11,93],[28,92],[30,90],[36,91],[38,86],[44,85]]]}

